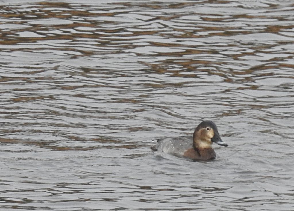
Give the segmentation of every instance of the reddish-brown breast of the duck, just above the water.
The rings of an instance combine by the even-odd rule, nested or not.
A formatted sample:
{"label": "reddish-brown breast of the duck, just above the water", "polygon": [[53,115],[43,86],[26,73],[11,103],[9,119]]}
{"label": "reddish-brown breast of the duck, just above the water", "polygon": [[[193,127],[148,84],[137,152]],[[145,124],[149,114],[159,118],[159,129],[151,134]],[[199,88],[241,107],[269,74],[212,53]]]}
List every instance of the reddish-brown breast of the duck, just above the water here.
{"label": "reddish-brown breast of the duck, just above the water", "polygon": [[197,150],[190,148],[183,156],[192,160],[212,160],[216,158],[216,153],[213,148],[198,148]]}

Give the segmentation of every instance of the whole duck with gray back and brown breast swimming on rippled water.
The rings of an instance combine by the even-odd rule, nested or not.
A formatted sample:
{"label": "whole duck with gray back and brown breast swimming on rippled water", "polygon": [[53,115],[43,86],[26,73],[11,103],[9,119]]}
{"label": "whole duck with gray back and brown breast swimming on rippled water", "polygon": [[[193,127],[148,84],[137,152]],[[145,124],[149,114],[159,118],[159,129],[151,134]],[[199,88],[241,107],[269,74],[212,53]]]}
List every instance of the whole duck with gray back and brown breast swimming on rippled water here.
{"label": "whole duck with gray back and brown breast swimming on rippled water", "polygon": [[227,147],[218,133],[213,121],[202,121],[194,130],[193,137],[184,135],[179,137],[161,138],[151,149],[191,160],[209,161],[216,158],[212,144]]}

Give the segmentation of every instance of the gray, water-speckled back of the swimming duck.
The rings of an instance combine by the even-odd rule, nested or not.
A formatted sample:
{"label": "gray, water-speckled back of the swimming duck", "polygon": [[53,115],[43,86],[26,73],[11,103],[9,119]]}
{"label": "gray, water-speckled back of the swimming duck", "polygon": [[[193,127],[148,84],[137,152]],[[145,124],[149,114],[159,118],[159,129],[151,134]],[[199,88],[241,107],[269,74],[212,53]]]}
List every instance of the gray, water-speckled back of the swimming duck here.
{"label": "gray, water-speckled back of the swimming duck", "polygon": [[157,151],[183,156],[186,150],[193,147],[191,136],[185,135],[174,138],[162,138],[155,145]]}

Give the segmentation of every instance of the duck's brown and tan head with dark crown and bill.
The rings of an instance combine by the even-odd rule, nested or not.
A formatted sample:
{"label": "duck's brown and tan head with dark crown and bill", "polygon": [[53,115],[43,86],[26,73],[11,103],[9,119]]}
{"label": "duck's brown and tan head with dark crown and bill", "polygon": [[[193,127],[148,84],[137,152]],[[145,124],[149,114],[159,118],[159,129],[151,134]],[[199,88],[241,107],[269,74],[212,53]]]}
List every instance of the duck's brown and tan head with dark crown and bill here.
{"label": "duck's brown and tan head with dark crown and bill", "polygon": [[193,143],[195,148],[211,148],[212,143],[227,147],[228,144],[221,140],[218,128],[213,121],[203,121],[195,129]]}

